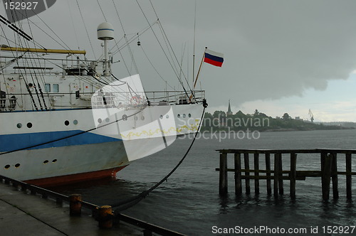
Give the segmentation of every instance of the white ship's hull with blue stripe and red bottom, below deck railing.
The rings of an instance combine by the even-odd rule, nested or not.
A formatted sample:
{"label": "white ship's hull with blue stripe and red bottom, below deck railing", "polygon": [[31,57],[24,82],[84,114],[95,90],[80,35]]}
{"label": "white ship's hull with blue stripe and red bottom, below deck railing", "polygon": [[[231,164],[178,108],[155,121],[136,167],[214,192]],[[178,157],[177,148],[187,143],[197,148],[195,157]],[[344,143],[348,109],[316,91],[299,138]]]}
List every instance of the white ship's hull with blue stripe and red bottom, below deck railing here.
{"label": "white ship's hull with blue stripe and red bottom, below deck railing", "polygon": [[[165,119],[164,114],[159,114],[159,109],[167,110],[168,107],[172,107],[174,114],[175,132],[174,135],[166,132],[167,139],[173,138],[174,141],[175,135],[197,132],[203,110],[201,104],[148,107],[154,109],[152,114],[158,116],[152,120]],[[159,136],[128,140],[130,145],[137,146],[137,158],[132,154],[128,158],[122,139],[100,128],[95,129],[94,119],[90,119],[93,117],[91,109],[6,112],[0,116],[0,175],[39,186],[115,178],[116,172],[133,159],[155,152],[152,144],[162,141]],[[135,127],[134,117],[130,118],[125,122]],[[110,130],[115,127],[117,122],[108,122],[104,128]],[[140,132],[147,134],[152,131]]]}

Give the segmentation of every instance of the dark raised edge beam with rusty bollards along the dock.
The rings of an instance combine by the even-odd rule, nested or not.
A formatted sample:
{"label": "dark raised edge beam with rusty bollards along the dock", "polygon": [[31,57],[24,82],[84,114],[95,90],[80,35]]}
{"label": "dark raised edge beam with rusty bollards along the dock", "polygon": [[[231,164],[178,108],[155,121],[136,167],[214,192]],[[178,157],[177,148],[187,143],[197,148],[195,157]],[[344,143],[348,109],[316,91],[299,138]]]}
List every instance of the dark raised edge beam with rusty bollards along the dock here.
{"label": "dark raised edge beam with rusty bollards along the dock", "polygon": [[[80,198],[78,198],[78,194],[74,194],[75,198],[71,198],[71,196],[67,196],[67,195],[63,195],[61,193],[56,193],[53,191],[49,191],[46,188],[41,188],[38,186],[33,186],[29,183],[24,183],[22,181],[16,181],[13,178],[8,178],[6,176],[0,176],[0,183],[6,183],[8,185],[12,185],[14,186],[14,188],[20,188],[21,191],[23,192],[27,192],[29,191],[32,195],[41,195],[42,198],[53,198],[56,200],[57,204],[62,204],[63,201],[66,201],[68,203],[73,203],[73,200],[76,200],[77,202],[74,202],[74,208],[77,208],[78,202],[80,202],[80,208],[84,207],[87,208],[89,210],[93,211],[93,217],[97,218],[96,220],[99,221],[99,227],[100,227],[100,220],[98,219],[100,217],[100,213],[98,213],[98,211],[100,211],[103,208],[108,207],[107,205],[100,207],[98,205],[95,205],[93,203],[88,203],[85,202],[83,200],[81,200],[81,196]],[[80,210],[79,208],[79,215],[80,215]],[[77,211],[78,209],[74,209],[74,211]],[[103,209],[105,210],[105,209]],[[111,207],[110,207],[111,210]],[[72,215],[72,208],[70,206],[70,215]],[[73,215],[77,215],[77,213],[74,213]],[[99,215],[99,216],[98,216]],[[179,232],[175,232],[173,230],[168,230],[164,227],[159,227],[157,225],[153,225],[149,222],[145,222],[142,220],[138,220],[136,218],[132,218],[128,215],[124,215],[121,213],[118,214],[112,214],[112,213],[108,213],[106,215],[103,215],[103,222],[108,222],[108,220],[113,220],[113,219],[117,219],[120,220],[122,222],[126,222],[127,224],[130,225],[134,225],[135,227],[139,227],[142,229],[143,235],[152,235],[152,232],[158,234],[158,235],[172,235],[172,236],[184,236],[183,234],[179,233]],[[103,225],[103,224],[102,224]]]}

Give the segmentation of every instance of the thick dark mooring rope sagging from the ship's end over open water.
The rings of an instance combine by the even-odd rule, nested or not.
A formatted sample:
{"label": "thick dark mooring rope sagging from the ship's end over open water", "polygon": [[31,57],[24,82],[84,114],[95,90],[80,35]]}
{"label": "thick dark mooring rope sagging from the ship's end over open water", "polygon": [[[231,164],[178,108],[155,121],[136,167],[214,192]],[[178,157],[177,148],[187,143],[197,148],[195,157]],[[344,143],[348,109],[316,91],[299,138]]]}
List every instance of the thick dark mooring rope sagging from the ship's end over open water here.
{"label": "thick dark mooring rope sagging from the ship's end over open water", "polygon": [[167,176],[164,176],[164,178],[162,178],[161,181],[157,182],[155,184],[155,186],[152,186],[151,188],[149,188],[146,191],[142,191],[142,193],[139,193],[138,195],[132,197],[132,198],[127,198],[125,200],[121,200],[120,202],[117,203],[112,203],[110,204],[112,208],[116,208],[115,210],[115,215],[120,214],[121,210],[126,210],[127,208],[131,208],[133,205],[136,205],[137,203],[140,202],[140,200],[142,200],[143,198],[146,198],[147,195],[149,195],[152,191],[154,191],[158,186],[160,186],[164,181],[167,181],[167,179],[169,178],[169,176],[172,175],[172,173],[174,173],[174,171],[177,170],[177,168],[183,163],[184,159],[187,157],[187,155],[189,154],[190,149],[192,149],[192,146],[194,144],[195,139],[197,138],[199,129],[201,127],[201,123],[203,122],[204,119],[204,114],[205,114],[205,109],[208,106],[208,104],[206,103],[206,100],[203,100],[203,112],[201,114],[201,119],[199,122],[199,127],[197,129],[197,133],[195,133],[194,135],[194,139],[192,140],[192,143],[190,144],[189,148],[187,149],[187,151],[185,152],[184,156],[182,157],[182,159],[179,161],[179,163],[177,163],[176,166],[174,166],[174,168],[172,169],[172,171],[170,171]]}

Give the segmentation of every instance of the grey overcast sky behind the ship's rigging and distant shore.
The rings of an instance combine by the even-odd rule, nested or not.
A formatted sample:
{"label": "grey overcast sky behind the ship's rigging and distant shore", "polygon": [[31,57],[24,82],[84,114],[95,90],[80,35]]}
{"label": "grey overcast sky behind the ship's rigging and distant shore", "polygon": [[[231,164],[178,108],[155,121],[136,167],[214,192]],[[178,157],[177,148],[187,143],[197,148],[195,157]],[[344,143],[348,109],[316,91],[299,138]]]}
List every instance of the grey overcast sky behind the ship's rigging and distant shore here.
{"label": "grey overcast sky behind the ship's rigging and distant shore", "polygon": [[[121,40],[119,45],[123,45],[117,12],[128,38],[147,28],[147,21],[153,23],[156,19],[150,1],[139,0],[147,20],[136,1],[115,0],[116,9],[112,1],[99,2],[106,19],[97,1],[78,0],[94,53],[76,1],[58,0],[39,16],[68,46],[87,50],[88,58],[100,56],[96,28],[103,21],[114,25],[115,40]],[[178,60],[183,59],[184,73],[191,82],[195,3],[192,0],[152,0],[152,4]],[[3,10],[1,6],[1,12]],[[253,113],[258,109],[272,117],[288,112],[292,117],[308,118],[308,110],[312,109],[315,121],[356,122],[355,12],[354,0],[197,0],[196,67],[204,47],[224,53],[222,68],[204,64],[199,77],[201,87],[206,90],[209,111],[226,110],[230,99],[233,112],[241,109],[244,113]],[[39,18],[30,19],[53,36]],[[26,22],[23,27],[26,28]],[[157,24],[154,28],[159,33]],[[41,31],[38,33],[41,35]],[[60,48],[58,43],[48,40],[48,36],[35,38],[41,45]],[[131,49],[146,89],[164,89],[165,82],[159,75],[179,89],[177,77],[152,31],[143,33],[140,42],[141,48],[135,41]],[[127,55],[126,48],[122,55]],[[114,60],[121,60],[115,64],[114,74],[127,76],[129,72],[120,53],[114,55]],[[125,63],[130,73],[135,74],[132,60],[126,58]]]}

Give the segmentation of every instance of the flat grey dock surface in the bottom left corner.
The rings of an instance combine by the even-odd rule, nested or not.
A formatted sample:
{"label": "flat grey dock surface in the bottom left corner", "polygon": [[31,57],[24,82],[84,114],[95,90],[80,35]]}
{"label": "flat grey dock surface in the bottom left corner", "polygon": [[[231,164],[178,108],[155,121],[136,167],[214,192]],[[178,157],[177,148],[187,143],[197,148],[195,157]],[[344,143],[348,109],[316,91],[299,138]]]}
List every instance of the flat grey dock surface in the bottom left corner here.
{"label": "flat grey dock surface in the bottom left corner", "polygon": [[89,210],[70,217],[69,205],[31,195],[0,183],[0,235],[143,235],[142,229],[120,222],[110,230],[98,227]]}

